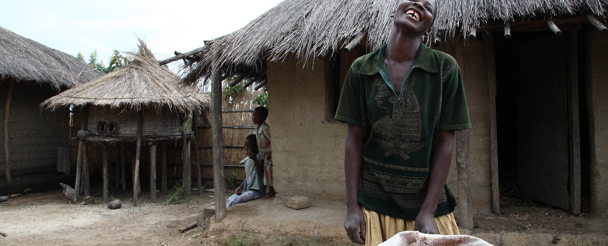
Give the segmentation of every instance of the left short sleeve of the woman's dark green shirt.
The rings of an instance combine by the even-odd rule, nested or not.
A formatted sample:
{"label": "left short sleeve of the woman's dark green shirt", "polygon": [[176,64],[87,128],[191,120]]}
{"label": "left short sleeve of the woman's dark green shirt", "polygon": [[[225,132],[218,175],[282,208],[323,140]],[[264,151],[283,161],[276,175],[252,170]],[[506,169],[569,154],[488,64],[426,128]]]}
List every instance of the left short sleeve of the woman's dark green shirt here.
{"label": "left short sleeve of the woman's dark green shirt", "polygon": [[363,125],[361,79],[353,66],[354,63],[344,80],[344,87],[342,87],[342,94],[340,94],[340,101],[334,119],[361,127]]}

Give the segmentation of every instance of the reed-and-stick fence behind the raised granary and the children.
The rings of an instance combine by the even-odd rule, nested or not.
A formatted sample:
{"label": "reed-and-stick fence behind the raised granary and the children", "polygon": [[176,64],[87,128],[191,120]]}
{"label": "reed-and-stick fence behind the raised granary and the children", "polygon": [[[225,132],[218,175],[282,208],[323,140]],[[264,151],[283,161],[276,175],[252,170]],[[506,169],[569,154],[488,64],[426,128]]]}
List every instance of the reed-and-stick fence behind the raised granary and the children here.
{"label": "reed-and-stick fence behind the raised granary and the children", "polygon": [[[223,101],[223,133],[224,133],[224,169],[225,178],[230,178],[232,172],[235,173],[236,179],[243,179],[245,177],[243,167],[240,166],[239,162],[246,157],[243,144],[244,139],[247,135],[251,134],[254,130],[253,122],[251,121],[252,111],[258,105],[255,105],[253,100],[258,94],[263,91],[254,91],[249,88],[245,93],[237,96],[224,96]],[[78,141],[73,140],[77,136],[80,130],[80,121],[82,119],[81,109],[74,107],[72,110],[72,122],[70,127],[70,160],[72,167],[75,168],[78,153]],[[201,165],[201,176],[202,184],[205,185],[208,181],[213,179],[213,156],[212,156],[212,137],[211,137],[211,125],[209,119],[197,118],[196,126],[197,135],[195,136],[196,145],[198,147],[199,164]],[[95,144],[94,142],[88,143],[89,150],[89,164],[91,165],[92,175],[101,175],[102,169],[102,153],[103,146]],[[126,178],[128,183],[131,182],[130,165],[131,155],[135,151],[134,144],[126,144],[126,165],[125,170],[128,172]],[[161,151],[157,151],[157,180],[160,182],[161,168],[160,168],[160,154]],[[196,179],[196,166],[195,166],[195,155],[197,152],[192,150],[192,178]],[[110,179],[113,180],[114,165],[119,163],[120,147],[118,143],[110,144],[108,146],[108,163],[109,163],[109,175]],[[147,184],[145,180],[150,177],[150,149],[146,144],[142,145],[142,156],[140,166],[140,178],[142,178],[142,184]],[[175,142],[167,143],[167,179],[168,186],[173,187],[179,179],[182,177],[182,141],[178,140]],[[110,182],[111,184],[113,181]],[[112,186],[111,186],[112,187]]]}

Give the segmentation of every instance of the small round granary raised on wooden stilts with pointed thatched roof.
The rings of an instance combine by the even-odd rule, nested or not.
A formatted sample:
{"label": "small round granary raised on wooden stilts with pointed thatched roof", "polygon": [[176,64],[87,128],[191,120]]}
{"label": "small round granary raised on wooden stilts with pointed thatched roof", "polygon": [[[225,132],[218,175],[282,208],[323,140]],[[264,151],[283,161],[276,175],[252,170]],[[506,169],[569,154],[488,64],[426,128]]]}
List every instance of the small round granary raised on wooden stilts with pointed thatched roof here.
{"label": "small round granary raised on wooden stilts with pointed thatched roof", "polygon": [[[182,140],[184,143],[184,180],[190,191],[190,114],[205,114],[209,96],[195,86],[178,85],[180,78],[160,66],[142,40],[139,52],[131,54],[130,62],[105,76],[74,86],[47,99],[41,107],[57,110],[62,107],[82,107],[83,120],[78,149],[77,181],[83,183],[85,195],[89,192],[87,142],[103,146],[103,200],[108,201],[108,147],[128,142],[136,144],[134,165],[134,202],[139,193],[139,163],[142,144],[150,146],[151,200],[156,200],[156,145]],[[188,122],[192,122],[190,119]],[[121,144],[122,183],[125,188],[125,146]],[[81,157],[82,156],[82,157]],[[161,156],[163,189],[167,186],[166,151]],[[82,167],[82,168],[80,168]],[[82,172],[82,175],[80,173]],[[81,178],[82,177],[82,178]],[[82,180],[82,181],[81,181]],[[77,185],[78,187],[78,185]],[[78,191],[78,188],[77,188]]]}

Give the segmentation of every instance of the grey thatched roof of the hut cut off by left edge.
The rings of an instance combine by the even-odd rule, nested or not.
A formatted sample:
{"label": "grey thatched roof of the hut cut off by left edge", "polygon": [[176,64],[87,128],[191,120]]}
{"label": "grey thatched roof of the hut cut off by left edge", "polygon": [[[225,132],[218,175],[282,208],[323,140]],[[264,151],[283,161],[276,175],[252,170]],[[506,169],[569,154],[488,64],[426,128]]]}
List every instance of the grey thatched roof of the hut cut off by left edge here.
{"label": "grey thatched roof of the hut cut off by left edge", "polygon": [[0,27],[0,79],[49,83],[56,90],[102,76],[78,58]]}

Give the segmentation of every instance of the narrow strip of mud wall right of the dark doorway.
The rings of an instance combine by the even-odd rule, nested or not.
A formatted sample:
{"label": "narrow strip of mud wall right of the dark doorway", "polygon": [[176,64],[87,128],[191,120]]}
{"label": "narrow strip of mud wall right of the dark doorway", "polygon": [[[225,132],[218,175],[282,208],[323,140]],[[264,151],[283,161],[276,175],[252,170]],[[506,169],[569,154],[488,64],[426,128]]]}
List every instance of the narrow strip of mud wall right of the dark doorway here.
{"label": "narrow strip of mud wall right of the dark doorway", "polygon": [[[608,217],[608,39],[587,34],[587,107],[589,110],[591,209]],[[581,127],[584,127],[581,125]],[[586,180],[582,180],[585,182]]]}

